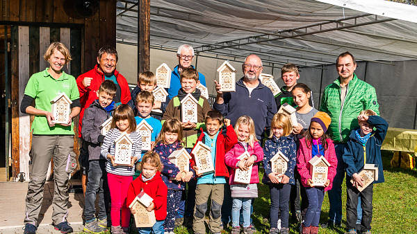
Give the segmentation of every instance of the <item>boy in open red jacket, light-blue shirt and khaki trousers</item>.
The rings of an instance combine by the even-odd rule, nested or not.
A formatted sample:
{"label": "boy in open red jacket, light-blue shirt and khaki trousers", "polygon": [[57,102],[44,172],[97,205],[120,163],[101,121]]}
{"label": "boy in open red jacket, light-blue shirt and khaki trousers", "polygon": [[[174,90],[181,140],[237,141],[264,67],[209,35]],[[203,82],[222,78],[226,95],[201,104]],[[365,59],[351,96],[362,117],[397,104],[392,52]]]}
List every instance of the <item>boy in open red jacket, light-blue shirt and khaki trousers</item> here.
{"label": "boy in open red jacket, light-blue shirt and khaki trousers", "polygon": [[[219,132],[222,123],[226,125],[226,134]],[[226,165],[224,164],[224,154],[231,147],[238,143],[238,137],[230,125],[229,119],[224,119],[219,111],[208,111],[206,119],[206,132],[202,132],[197,140],[211,148],[211,159],[215,172],[209,174],[199,174],[199,168],[195,167],[198,176],[197,189],[195,191],[195,213],[193,222],[194,233],[206,233],[204,216],[207,210],[208,197],[211,197],[211,211],[208,227],[212,233],[221,233],[223,230],[221,222],[221,211],[223,204],[224,184],[229,177]],[[192,155],[193,156],[193,155]],[[194,157],[194,156],[193,156]]]}

